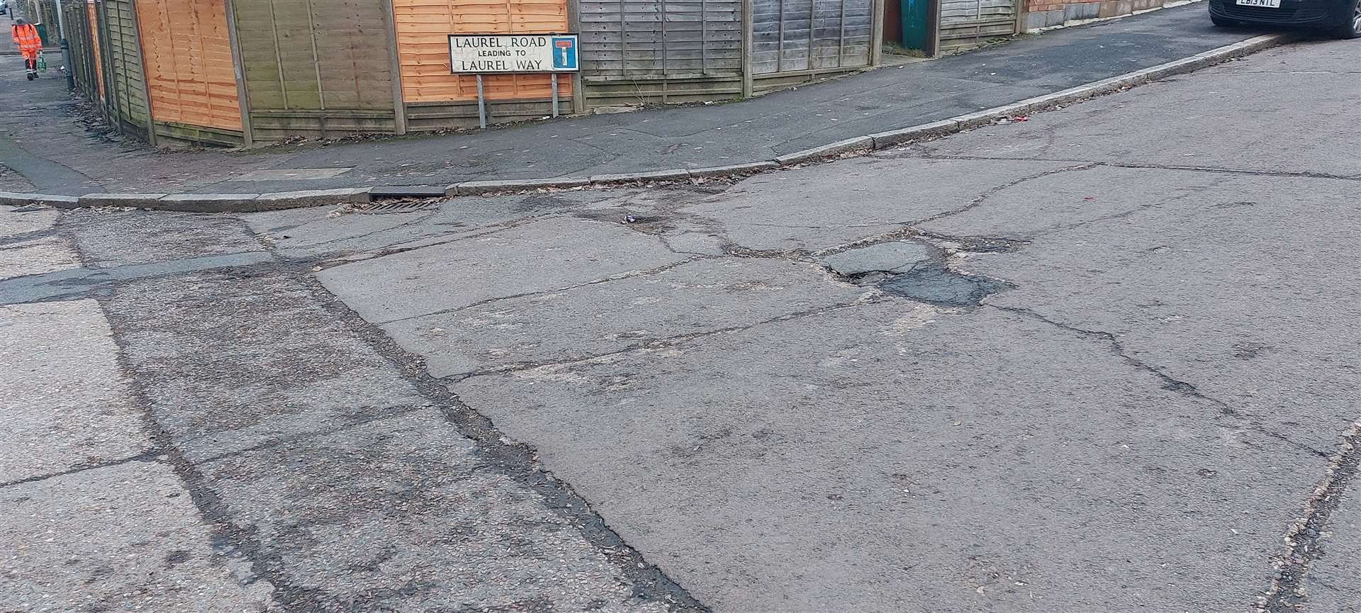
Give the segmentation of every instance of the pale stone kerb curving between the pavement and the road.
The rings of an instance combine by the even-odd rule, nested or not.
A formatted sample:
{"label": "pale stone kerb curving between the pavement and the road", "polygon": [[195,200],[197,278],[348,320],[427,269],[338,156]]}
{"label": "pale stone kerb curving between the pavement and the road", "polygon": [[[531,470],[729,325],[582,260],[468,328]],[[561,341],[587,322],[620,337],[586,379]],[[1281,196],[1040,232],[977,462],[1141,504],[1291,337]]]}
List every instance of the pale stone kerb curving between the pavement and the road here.
{"label": "pale stone kerb curving between the pavement and the road", "polygon": [[[572,185],[572,188],[569,189],[580,189],[583,186],[588,188],[618,186],[618,185],[655,183],[655,182],[668,182],[668,181],[694,181],[698,178],[735,179],[750,174],[766,173],[787,167],[796,167],[806,163],[821,163],[845,156],[867,155],[870,152],[890,147],[897,147],[908,141],[934,139],[939,136],[962,132],[970,128],[988,125],[996,120],[1007,117],[1045,111],[1057,105],[1081,102],[1087,98],[1121,91],[1130,87],[1164,79],[1172,75],[1194,72],[1200,68],[1206,68],[1236,57],[1243,57],[1251,53],[1256,53],[1262,49],[1277,46],[1289,42],[1292,39],[1294,39],[1292,34],[1263,34],[1230,45],[1224,45],[1211,49],[1209,52],[1196,53],[1192,56],[1187,56],[1179,60],[1172,60],[1139,71],[1126,72],[1123,75],[1116,75],[1112,77],[1085,83],[1052,94],[1026,98],[1019,102],[995,106],[991,109],[955,116],[940,121],[919,124],[887,132],[876,132],[872,135],[855,136],[836,143],[811,147],[791,154],[777,155],[774,159],[770,160],[753,160],[743,164],[715,166],[704,169],[659,169],[659,170],[648,170],[638,173],[593,175],[585,178],[554,177],[554,178],[506,179],[506,181],[464,181],[452,185],[357,188],[357,189],[350,189],[347,192],[348,197],[354,198],[355,201],[367,201],[370,198],[370,192],[382,193],[384,197],[400,197],[404,193],[403,189],[406,189],[411,194],[427,196],[427,197],[437,190],[444,193],[445,196],[460,196],[464,194],[463,192],[468,192],[467,193],[468,196],[474,193],[490,196],[490,194],[534,192],[540,189],[555,189],[550,185],[553,182],[569,182]],[[495,185],[489,185],[489,183],[495,183]],[[342,190],[316,190],[316,192],[342,192]],[[144,208],[154,208],[161,211],[256,212],[256,211],[275,211],[283,208],[317,205],[320,203],[317,201],[318,196],[316,194],[316,192],[278,192],[278,193],[264,193],[264,194],[222,194],[222,193],[166,194],[166,196],[157,194],[161,197],[157,198],[146,197],[143,200],[137,200],[136,198],[137,194],[116,194],[116,196],[128,196],[129,198],[125,200],[128,203],[139,203],[139,205],[143,205]],[[302,196],[305,193],[308,196]],[[290,194],[298,194],[298,196],[290,197]],[[72,196],[56,196],[56,194],[0,192],[0,204],[11,204],[11,205],[41,204],[57,208],[76,208],[76,207],[91,207],[91,205],[108,205],[109,204],[106,203],[108,196],[110,194],[87,194],[83,197],[72,197]],[[84,203],[82,203],[82,200],[84,200]]]}

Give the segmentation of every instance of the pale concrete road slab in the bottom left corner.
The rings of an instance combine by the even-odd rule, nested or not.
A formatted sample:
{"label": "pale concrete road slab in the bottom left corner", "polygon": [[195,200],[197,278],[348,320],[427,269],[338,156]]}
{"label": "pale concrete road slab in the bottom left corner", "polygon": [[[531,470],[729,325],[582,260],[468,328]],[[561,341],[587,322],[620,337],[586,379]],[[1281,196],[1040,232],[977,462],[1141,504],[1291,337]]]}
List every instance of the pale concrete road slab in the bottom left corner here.
{"label": "pale concrete road slab in the bottom left corner", "polygon": [[215,545],[169,466],[137,461],[0,488],[0,609],[253,613],[269,583]]}

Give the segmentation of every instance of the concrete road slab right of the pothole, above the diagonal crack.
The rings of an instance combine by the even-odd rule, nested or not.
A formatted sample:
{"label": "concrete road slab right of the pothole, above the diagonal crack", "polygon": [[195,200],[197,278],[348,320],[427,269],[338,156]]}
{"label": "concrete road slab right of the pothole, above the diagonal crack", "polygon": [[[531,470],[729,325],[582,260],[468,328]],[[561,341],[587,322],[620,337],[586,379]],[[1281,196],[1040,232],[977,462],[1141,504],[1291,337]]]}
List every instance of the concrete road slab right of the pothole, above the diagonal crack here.
{"label": "concrete road slab right of the pothole, above the diagonal crack", "polygon": [[[1102,192],[1087,201],[1093,179]],[[1361,389],[1361,307],[1343,264],[1361,258],[1356,185],[1101,169],[1018,185],[925,228],[1029,238],[955,268],[1015,285],[992,304],[1115,334],[1224,410],[1331,453]]]}

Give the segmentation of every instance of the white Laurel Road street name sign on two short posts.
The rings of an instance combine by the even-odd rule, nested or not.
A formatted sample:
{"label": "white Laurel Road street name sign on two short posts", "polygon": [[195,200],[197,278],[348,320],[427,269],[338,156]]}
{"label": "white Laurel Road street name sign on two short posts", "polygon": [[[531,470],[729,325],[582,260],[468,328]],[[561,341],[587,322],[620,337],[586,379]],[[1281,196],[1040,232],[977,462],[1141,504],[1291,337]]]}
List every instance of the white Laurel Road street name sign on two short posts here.
{"label": "white Laurel Road street name sign on two short posts", "polygon": [[548,73],[558,117],[558,73],[578,72],[576,34],[449,34],[449,69],[478,80],[478,126],[487,128],[485,75]]}

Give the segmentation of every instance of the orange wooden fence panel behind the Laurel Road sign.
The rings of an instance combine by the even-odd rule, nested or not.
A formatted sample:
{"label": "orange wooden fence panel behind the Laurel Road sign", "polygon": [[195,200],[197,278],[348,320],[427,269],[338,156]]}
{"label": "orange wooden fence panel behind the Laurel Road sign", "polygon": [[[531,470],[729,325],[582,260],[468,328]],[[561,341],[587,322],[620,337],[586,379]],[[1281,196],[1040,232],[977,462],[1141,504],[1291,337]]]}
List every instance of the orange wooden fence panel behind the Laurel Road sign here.
{"label": "orange wooden fence panel behind the Laurel Road sign", "polygon": [[[449,34],[562,34],[568,31],[566,0],[393,0],[401,95],[406,102],[478,99],[472,75],[453,75]],[[487,101],[544,99],[553,95],[550,75],[489,75]],[[558,95],[572,94],[572,76],[558,76]]]}

